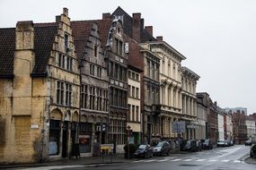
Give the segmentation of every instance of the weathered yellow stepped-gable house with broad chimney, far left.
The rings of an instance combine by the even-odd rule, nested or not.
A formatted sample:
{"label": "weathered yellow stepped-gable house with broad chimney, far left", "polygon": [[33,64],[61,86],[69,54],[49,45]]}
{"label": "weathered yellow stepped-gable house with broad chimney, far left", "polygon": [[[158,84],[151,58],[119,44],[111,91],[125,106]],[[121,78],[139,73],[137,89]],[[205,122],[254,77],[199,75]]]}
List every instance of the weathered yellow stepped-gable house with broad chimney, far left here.
{"label": "weathered yellow stepped-gable house with broad chimney, far left", "polygon": [[13,79],[0,81],[0,161],[69,157],[77,135],[80,81],[67,9],[53,23],[18,22],[14,33]]}

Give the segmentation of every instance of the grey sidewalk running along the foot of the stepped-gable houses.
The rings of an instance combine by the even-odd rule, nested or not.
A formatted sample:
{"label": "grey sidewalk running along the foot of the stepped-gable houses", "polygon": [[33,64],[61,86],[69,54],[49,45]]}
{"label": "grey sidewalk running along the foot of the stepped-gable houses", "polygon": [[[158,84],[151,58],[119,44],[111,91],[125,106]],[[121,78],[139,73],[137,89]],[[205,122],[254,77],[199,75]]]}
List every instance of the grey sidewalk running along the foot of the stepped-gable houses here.
{"label": "grey sidewalk running along the foot of the stepped-gable houses", "polygon": [[38,167],[38,166],[74,166],[74,165],[102,165],[102,164],[118,164],[130,162],[131,159],[124,158],[124,154],[106,157],[81,157],[71,159],[53,160],[45,163],[34,164],[16,164],[16,165],[0,165],[0,169],[18,168],[18,167]]}

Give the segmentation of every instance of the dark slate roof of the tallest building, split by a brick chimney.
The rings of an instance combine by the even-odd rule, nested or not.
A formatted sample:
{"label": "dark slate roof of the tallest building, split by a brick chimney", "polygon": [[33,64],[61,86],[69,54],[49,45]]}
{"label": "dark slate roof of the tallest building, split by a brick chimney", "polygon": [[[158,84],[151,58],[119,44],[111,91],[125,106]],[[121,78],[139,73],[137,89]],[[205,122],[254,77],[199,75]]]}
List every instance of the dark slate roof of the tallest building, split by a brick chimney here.
{"label": "dark slate roof of the tallest building, split by a brick chimney", "polygon": [[[120,6],[111,14],[114,16],[123,16],[123,30],[124,32],[132,38],[132,17],[126,13]],[[140,29],[140,41],[155,41],[156,39],[151,36],[144,28]]]}

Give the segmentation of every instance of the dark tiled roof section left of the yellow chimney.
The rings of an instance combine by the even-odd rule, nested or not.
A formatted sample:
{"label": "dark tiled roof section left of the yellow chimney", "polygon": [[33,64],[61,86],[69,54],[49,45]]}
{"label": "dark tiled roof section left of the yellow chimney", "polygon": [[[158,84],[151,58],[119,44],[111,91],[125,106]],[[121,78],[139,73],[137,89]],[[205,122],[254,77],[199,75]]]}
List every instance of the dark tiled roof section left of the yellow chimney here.
{"label": "dark tiled roof section left of the yellow chimney", "polygon": [[13,78],[15,29],[0,29],[0,78]]}

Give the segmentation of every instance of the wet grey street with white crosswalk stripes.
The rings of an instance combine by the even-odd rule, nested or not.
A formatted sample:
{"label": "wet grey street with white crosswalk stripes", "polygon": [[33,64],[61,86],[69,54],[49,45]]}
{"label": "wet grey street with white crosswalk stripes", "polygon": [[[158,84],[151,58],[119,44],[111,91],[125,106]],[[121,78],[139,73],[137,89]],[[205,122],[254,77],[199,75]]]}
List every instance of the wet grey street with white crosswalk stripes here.
{"label": "wet grey street with white crosswalk stripes", "polygon": [[189,152],[185,154],[171,154],[168,157],[153,157],[146,159],[131,159],[129,163],[109,164],[109,165],[75,165],[75,166],[44,166],[23,168],[23,170],[33,169],[139,169],[139,170],[254,170],[255,165],[244,163],[244,158],[248,157],[250,147],[236,145],[228,148],[215,148],[200,152]]}

